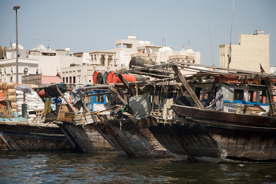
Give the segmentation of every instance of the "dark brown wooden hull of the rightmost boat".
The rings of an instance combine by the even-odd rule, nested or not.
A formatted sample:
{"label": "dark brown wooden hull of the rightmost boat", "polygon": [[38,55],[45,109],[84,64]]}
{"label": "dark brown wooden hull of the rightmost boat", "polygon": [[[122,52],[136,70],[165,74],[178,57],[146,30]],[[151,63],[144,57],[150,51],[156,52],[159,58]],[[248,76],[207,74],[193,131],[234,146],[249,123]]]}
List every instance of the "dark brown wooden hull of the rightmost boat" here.
{"label": "dark brown wooden hull of the rightmost boat", "polygon": [[276,120],[248,114],[172,105],[181,116],[201,125],[229,159],[249,161],[276,160]]}

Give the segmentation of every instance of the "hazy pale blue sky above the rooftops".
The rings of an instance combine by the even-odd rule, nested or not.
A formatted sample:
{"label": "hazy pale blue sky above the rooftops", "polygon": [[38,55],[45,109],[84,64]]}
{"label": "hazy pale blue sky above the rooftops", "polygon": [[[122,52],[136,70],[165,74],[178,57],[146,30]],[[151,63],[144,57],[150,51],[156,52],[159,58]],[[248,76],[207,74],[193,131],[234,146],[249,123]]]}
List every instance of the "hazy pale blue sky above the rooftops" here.
{"label": "hazy pale blue sky above the rooftops", "polygon": [[[229,44],[233,0],[179,1],[15,1],[0,0],[0,45],[15,43],[18,10],[18,43],[33,49],[42,43],[52,50],[70,48],[89,52],[115,48],[115,41],[133,35],[174,51],[181,47],[201,53],[201,64],[219,66],[219,45]],[[238,34],[264,30],[270,34],[270,65],[276,65],[276,1],[235,0],[232,44]],[[246,69],[246,68],[243,68]]]}

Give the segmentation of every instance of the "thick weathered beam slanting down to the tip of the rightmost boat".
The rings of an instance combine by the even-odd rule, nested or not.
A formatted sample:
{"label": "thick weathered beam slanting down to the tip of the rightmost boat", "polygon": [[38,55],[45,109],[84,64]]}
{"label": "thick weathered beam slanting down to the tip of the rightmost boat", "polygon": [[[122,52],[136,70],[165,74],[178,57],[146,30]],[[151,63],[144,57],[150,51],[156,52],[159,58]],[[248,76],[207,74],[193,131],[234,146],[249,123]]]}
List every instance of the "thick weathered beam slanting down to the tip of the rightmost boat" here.
{"label": "thick weathered beam slanting down to the tip of the rightmost boat", "polygon": [[183,84],[183,86],[186,88],[186,90],[188,91],[189,95],[192,97],[192,99],[194,100],[195,104],[197,105],[197,107],[199,109],[204,109],[204,107],[202,106],[202,104],[200,103],[200,101],[198,100],[196,94],[194,93],[193,89],[191,88],[190,84],[187,82],[187,80],[183,77],[183,75],[181,74],[180,70],[178,69],[178,67],[176,65],[172,66],[175,74],[177,75],[178,79],[181,81],[181,83]]}

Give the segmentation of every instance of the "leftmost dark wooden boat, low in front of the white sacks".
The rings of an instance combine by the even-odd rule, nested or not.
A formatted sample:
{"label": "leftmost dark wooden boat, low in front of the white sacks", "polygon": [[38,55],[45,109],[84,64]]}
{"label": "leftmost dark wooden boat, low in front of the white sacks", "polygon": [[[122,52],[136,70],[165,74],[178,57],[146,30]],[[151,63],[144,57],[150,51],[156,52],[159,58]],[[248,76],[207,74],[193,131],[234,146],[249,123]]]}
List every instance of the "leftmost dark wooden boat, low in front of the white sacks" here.
{"label": "leftmost dark wooden boat, low in front of the white sacks", "polygon": [[57,125],[40,120],[27,121],[11,113],[10,100],[2,98],[1,104],[7,106],[8,113],[0,118],[0,149],[10,151],[53,151],[73,150],[70,142]]}

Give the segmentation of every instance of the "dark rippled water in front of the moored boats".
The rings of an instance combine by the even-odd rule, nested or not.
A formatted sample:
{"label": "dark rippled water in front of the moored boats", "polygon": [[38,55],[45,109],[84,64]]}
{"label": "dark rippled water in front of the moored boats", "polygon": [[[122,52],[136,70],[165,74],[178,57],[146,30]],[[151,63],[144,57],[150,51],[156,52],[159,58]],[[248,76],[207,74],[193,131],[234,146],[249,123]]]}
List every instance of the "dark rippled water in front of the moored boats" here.
{"label": "dark rippled water in front of the moored boats", "polygon": [[0,151],[0,183],[276,183],[276,164]]}

